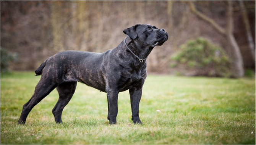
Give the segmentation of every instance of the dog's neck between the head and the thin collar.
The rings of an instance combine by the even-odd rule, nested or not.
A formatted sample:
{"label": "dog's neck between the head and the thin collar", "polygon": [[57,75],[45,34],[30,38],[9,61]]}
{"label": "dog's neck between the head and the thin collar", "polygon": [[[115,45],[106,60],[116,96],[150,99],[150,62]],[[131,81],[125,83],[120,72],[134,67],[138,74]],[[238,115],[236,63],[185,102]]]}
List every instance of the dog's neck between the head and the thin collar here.
{"label": "dog's neck between the head and the thin collar", "polygon": [[[149,56],[149,54],[151,53],[151,51],[154,48],[151,46],[147,46],[147,47],[141,46],[142,44],[137,44],[136,41],[131,39],[129,36],[127,36],[125,38],[124,42],[125,42],[127,49],[133,55],[135,55],[135,57],[137,56],[137,58],[139,59],[140,62],[146,61],[147,57]],[[133,43],[131,43],[131,42],[133,42]]]}

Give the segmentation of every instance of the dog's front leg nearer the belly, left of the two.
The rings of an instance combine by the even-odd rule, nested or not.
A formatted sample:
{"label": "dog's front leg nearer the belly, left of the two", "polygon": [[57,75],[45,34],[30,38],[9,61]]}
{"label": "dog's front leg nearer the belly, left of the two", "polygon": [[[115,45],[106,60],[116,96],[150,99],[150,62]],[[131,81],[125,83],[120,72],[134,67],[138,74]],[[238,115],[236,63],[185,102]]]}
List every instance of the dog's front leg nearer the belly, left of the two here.
{"label": "dog's front leg nearer the belly, left of the two", "polygon": [[108,119],[110,124],[115,124],[117,122],[117,99],[118,99],[118,91],[109,90],[107,91],[107,100],[108,100]]}

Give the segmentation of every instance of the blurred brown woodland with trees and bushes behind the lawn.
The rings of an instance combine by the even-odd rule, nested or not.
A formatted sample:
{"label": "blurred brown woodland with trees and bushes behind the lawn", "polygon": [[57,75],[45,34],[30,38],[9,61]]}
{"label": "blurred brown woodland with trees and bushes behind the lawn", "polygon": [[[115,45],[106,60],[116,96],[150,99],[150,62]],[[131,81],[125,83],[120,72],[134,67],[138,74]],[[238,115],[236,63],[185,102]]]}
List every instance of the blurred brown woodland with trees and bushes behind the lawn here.
{"label": "blurred brown woodland with trees and bushes behind the lawn", "polygon": [[135,24],[169,34],[148,73],[255,74],[255,1],[1,1],[1,72],[34,71],[64,50],[105,52]]}

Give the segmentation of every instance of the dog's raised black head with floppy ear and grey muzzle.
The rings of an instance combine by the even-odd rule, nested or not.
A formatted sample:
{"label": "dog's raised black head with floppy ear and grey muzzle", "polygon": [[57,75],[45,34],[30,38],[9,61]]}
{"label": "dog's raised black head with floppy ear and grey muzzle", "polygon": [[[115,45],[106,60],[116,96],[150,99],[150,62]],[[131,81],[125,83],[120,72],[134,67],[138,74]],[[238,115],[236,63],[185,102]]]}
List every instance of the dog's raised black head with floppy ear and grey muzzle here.
{"label": "dog's raised black head with floppy ear and grey muzzle", "polygon": [[158,29],[156,26],[149,24],[138,24],[125,29],[123,32],[144,47],[163,45],[168,39],[165,29]]}

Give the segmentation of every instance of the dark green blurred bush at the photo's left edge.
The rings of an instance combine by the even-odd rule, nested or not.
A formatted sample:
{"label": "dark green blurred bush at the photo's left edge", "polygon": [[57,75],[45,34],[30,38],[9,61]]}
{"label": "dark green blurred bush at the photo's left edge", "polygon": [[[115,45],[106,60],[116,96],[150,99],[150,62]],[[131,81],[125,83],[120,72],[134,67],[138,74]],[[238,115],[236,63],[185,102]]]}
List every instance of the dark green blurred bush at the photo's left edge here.
{"label": "dark green blurred bush at the photo's left edge", "polygon": [[1,72],[9,71],[9,62],[16,60],[17,54],[10,53],[6,48],[1,47]]}

